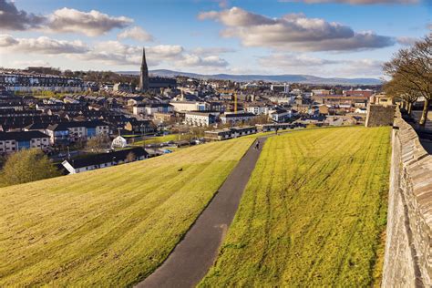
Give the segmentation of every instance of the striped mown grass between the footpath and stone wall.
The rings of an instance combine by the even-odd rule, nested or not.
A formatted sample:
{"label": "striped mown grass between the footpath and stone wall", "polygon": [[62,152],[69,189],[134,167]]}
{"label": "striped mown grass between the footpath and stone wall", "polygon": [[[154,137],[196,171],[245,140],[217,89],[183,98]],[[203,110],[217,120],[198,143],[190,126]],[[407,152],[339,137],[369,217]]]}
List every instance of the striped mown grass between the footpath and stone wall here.
{"label": "striped mown grass between the footpath and stone wall", "polygon": [[390,128],[269,138],[201,286],[379,284]]}

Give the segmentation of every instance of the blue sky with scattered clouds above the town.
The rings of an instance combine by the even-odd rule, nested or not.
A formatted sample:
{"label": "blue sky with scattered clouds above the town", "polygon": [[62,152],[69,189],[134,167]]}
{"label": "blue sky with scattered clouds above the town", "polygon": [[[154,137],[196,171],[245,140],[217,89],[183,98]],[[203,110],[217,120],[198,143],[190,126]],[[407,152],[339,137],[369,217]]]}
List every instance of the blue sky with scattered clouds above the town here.
{"label": "blue sky with scattered clouds above the town", "polygon": [[432,0],[0,0],[0,67],[383,77]]}

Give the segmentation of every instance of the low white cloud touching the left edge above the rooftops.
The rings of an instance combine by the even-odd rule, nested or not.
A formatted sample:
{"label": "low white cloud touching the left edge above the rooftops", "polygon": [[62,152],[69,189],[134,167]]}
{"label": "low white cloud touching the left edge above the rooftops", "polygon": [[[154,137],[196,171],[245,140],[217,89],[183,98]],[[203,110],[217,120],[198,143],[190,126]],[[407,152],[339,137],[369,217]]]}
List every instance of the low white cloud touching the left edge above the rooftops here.
{"label": "low white cloud touching the left edge above the rooftops", "polygon": [[10,35],[0,35],[0,48],[9,52],[24,52],[37,54],[81,54],[88,51],[81,41],[65,41],[46,36],[37,38],[14,38]]}

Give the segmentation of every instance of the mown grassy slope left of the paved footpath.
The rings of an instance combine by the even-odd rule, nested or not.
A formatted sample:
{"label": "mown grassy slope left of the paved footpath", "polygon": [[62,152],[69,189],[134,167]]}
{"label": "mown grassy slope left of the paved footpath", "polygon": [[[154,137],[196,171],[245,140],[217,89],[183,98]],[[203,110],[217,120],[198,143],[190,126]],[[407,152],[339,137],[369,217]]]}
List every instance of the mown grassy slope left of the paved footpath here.
{"label": "mown grassy slope left of the paved footpath", "polygon": [[143,279],[252,141],[0,189],[0,286],[117,287]]}

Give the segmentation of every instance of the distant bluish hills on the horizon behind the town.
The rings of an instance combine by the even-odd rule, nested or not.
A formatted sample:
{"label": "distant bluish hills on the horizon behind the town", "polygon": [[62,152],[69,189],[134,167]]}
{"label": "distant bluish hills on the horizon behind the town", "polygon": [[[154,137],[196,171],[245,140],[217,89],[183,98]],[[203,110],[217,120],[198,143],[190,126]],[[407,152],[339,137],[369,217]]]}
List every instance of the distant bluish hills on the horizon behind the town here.
{"label": "distant bluish hills on the horizon behind the town", "polygon": [[[118,71],[120,74],[139,74],[139,71]],[[159,77],[191,77],[199,79],[221,79],[231,80],[238,82],[250,82],[250,81],[266,81],[266,82],[288,82],[288,83],[303,83],[303,84],[323,84],[323,85],[380,85],[381,80],[376,78],[324,78],[316,77],[312,75],[232,75],[232,74],[196,74],[180,71],[172,71],[166,69],[150,70],[150,75]]]}

